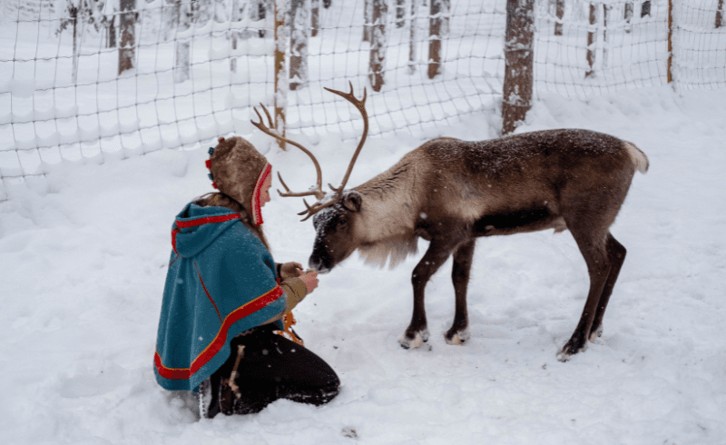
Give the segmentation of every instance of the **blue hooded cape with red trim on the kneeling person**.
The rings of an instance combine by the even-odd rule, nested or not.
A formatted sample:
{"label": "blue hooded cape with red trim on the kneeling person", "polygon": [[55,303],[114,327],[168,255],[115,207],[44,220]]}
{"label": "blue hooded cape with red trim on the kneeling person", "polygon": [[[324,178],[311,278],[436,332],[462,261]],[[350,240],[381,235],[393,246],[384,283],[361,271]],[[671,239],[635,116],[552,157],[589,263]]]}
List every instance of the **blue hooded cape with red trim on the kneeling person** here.
{"label": "blue hooded cape with red trim on the kneeling person", "polygon": [[272,255],[230,209],[187,204],[172,247],[154,373],[167,390],[198,391],[229,359],[231,339],[284,312],[287,297]]}

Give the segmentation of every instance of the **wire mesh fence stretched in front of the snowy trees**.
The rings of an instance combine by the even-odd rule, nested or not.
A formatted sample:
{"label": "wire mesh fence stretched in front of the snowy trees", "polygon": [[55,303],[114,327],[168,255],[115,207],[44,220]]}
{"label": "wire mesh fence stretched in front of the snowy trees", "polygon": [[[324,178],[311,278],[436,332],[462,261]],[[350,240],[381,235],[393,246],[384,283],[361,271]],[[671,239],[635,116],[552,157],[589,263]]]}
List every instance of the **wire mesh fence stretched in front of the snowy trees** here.
{"label": "wire mesh fence stretched in front of the snowy trees", "polygon": [[[288,132],[357,137],[358,115],[323,90],[348,81],[358,94],[368,86],[371,137],[443,133],[501,103],[506,8],[506,0],[4,0],[0,199],[6,184],[42,176],[45,164],[250,134],[260,103],[284,110]],[[671,80],[724,87],[722,13],[723,0],[537,0],[535,97]],[[275,64],[276,49],[285,64]]]}

